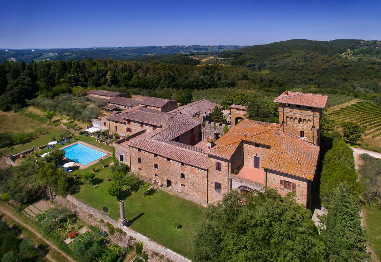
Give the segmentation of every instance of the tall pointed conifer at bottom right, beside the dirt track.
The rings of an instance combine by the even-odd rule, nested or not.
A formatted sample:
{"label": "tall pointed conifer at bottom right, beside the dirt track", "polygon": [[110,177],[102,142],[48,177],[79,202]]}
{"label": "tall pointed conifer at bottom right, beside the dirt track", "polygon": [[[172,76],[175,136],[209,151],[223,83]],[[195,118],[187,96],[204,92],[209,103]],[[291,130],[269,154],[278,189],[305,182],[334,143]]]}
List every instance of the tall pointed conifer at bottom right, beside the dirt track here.
{"label": "tall pointed conifer at bottom right, beside the dirt track", "polygon": [[346,182],[333,191],[322,236],[329,261],[367,261],[365,234],[360,221],[359,199]]}

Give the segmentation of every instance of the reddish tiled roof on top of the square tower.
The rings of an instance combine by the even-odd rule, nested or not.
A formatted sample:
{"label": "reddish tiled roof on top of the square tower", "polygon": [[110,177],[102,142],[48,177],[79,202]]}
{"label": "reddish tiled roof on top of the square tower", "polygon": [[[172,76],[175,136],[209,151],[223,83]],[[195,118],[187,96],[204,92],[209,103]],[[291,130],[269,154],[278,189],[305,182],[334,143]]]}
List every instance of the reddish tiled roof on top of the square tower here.
{"label": "reddish tiled roof on top of the square tower", "polygon": [[327,99],[328,96],[322,94],[284,91],[274,102],[324,108],[325,104],[327,104]]}

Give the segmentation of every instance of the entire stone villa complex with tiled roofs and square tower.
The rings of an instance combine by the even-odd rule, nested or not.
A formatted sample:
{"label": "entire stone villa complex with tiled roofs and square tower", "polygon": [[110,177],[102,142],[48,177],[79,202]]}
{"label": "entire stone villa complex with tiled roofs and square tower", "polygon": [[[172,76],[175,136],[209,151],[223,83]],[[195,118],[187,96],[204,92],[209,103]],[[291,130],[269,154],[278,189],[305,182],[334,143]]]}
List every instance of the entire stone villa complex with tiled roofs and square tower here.
{"label": "entire stone villa complex with tiled roofs and square tower", "polygon": [[[94,91],[105,92],[88,96],[102,96]],[[115,155],[131,171],[203,204],[232,189],[246,194],[271,187],[282,196],[294,192],[297,203],[311,206],[327,96],[285,91],[274,100],[279,123],[245,119],[246,108],[232,105],[232,125],[223,134],[224,124],[209,121],[216,104],[205,99],[178,109],[168,99],[133,96],[116,103],[117,92],[103,95],[92,99],[122,111],[93,125],[126,136],[114,144]]]}

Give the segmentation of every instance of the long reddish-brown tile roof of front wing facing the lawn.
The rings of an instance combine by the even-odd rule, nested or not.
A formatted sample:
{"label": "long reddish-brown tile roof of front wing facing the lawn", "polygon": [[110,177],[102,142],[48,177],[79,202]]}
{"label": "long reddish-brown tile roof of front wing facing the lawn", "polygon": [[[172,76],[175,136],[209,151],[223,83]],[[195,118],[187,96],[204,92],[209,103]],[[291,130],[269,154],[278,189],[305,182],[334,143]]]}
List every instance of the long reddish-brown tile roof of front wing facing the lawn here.
{"label": "long reddish-brown tile roof of front wing facing the lawn", "polygon": [[184,145],[174,141],[158,141],[152,138],[128,141],[126,144],[162,157],[168,157],[172,160],[186,163],[187,165],[204,170],[208,169],[208,155],[199,152],[197,148],[193,149],[190,145]]}

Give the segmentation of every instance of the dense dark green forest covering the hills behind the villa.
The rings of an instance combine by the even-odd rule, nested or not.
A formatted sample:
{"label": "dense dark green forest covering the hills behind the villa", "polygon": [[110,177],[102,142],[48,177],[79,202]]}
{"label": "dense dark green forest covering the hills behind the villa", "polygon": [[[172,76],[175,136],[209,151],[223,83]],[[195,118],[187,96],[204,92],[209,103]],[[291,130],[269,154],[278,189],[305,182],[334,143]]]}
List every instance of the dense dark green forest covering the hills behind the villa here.
{"label": "dense dark green forest covering the hills behind the villa", "polygon": [[233,91],[273,98],[285,90],[374,100],[381,96],[380,43],[288,40],[219,53],[233,58],[230,65],[197,66],[184,55],[157,56],[158,61],[154,57],[148,63],[113,58],[5,61],[0,65],[0,109],[72,93],[77,86],[163,98],[190,89],[192,100],[202,96],[214,102]]}

